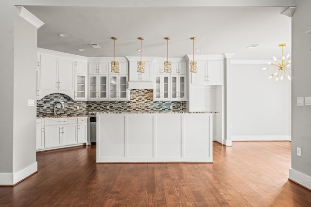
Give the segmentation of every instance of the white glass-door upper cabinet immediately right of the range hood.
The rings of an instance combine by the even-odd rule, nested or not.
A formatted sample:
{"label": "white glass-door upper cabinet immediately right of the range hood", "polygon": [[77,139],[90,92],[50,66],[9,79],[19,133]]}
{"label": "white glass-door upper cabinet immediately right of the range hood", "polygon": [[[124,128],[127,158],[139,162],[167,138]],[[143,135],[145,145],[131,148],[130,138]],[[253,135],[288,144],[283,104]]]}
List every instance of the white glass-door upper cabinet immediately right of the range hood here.
{"label": "white glass-door upper cabinet immediately right of the range hood", "polygon": [[170,75],[156,75],[154,83],[154,100],[170,100]]}

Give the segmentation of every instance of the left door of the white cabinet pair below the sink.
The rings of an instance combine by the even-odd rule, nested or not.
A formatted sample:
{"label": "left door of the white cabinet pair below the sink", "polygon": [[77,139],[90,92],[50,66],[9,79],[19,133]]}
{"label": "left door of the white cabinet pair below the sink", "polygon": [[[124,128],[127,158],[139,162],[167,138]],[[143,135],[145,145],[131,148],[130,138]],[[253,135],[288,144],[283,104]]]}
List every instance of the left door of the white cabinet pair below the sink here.
{"label": "left door of the white cabinet pair below the sink", "polygon": [[62,145],[62,126],[52,125],[45,126],[45,148],[56,147]]}

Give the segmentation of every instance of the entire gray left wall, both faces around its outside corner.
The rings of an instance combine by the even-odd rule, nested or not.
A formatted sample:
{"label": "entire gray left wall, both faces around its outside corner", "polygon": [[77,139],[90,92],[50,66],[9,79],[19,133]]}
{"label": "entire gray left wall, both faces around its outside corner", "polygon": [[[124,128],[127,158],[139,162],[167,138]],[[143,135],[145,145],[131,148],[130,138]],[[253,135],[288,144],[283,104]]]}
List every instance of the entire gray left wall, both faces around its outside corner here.
{"label": "entire gray left wall, both faces around its outside corner", "polygon": [[[37,30],[17,15],[13,3],[0,2],[0,182],[5,184],[15,184],[13,176],[6,175],[36,165],[36,108],[28,106],[28,99],[36,98]],[[25,173],[17,177],[28,176]]]}

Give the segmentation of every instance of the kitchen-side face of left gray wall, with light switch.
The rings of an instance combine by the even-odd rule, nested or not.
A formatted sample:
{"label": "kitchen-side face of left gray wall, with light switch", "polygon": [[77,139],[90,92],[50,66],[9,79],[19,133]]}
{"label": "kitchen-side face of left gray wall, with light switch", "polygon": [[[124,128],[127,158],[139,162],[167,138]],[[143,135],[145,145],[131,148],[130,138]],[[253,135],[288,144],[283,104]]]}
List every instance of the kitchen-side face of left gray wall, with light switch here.
{"label": "kitchen-side face of left gray wall, with light switch", "polygon": [[13,173],[36,162],[37,29],[25,19],[14,18],[14,112],[13,112]]}

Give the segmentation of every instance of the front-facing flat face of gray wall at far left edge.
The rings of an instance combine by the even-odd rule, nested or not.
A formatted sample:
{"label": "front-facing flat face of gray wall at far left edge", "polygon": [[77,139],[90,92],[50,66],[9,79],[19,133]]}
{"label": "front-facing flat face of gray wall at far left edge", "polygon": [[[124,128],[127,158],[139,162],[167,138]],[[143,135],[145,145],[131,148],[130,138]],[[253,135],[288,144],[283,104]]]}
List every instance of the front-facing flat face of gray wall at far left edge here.
{"label": "front-facing flat face of gray wall at far left edge", "polygon": [[12,0],[1,0],[0,3],[0,97],[2,100],[0,104],[0,173],[12,173],[13,170],[12,155],[15,10],[12,4]]}

